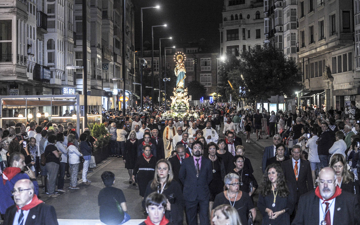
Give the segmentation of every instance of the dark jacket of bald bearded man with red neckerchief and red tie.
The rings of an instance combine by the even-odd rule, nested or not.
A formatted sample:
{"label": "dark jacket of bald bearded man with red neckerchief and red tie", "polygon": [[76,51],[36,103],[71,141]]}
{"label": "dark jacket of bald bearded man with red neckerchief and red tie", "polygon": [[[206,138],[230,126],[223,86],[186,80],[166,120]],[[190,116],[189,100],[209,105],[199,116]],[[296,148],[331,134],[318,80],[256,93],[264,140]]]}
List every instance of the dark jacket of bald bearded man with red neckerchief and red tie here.
{"label": "dark jacket of bald bearded man with red neckerchief and red tie", "polygon": [[[354,195],[351,193],[342,192],[335,198],[333,224],[359,224],[359,210],[357,198],[354,198]],[[331,213],[332,212],[330,212],[330,214]],[[323,218],[321,218],[321,220],[323,220]],[[315,190],[312,190],[300,197],[292,225],[319,224],[319,222],[319,197],[315,195]]]}

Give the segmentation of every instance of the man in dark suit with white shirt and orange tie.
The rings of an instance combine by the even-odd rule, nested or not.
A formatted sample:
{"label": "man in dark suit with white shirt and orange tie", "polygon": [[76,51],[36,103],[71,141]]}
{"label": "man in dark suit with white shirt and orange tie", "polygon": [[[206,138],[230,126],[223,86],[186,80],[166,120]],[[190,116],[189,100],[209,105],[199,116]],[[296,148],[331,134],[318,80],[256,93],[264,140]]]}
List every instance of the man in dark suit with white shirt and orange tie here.
{"label": "man in dark suit with white shirt and orange tie", "polygon": [[302,194],[314,189],[312,182],[311,168],[309,161],[301,159],[301,146],[294,145],[292,150],[292,158],[282,163],[281,168],[284,171],[285,181],[288,185],[289,192],[295,198],[295,210],[291,215],[291,219],[295,217],[297,203]]}

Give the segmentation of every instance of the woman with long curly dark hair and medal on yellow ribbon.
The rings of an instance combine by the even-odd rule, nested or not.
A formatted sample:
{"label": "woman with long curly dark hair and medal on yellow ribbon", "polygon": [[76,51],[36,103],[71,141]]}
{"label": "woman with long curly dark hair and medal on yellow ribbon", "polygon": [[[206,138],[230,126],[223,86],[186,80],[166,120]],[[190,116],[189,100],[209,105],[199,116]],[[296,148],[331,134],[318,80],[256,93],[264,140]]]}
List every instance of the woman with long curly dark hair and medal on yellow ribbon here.
{"label": "woman with long curly dark hair and medal on yellow ribbon", "polygon": [[261,224],[290,224],[290,215],[294,209],[293,199],[281,167],[276,164],[268,166],[260,185],[257,202],[262,214]]}

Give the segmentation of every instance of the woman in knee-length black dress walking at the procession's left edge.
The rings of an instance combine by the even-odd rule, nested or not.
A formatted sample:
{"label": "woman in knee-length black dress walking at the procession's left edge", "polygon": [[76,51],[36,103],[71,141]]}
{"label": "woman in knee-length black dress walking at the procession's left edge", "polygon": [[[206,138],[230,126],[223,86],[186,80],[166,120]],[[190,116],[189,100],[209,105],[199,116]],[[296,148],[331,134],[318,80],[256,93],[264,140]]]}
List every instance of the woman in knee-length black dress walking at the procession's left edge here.
{"label": "woman in knee-length black dress walking at the procession's left edge", "polygon": [[[138,139],[136,139],[136,133],[134,130],[130,131],[130,139],[125,142],[125,150],[123,152],[123,162],[125,163],[125,168],[129,172],[129,184],[132,183],[132,170],[135,167],[137,150],[138,150]],[[132,185],[136,185],[135,183]]]}

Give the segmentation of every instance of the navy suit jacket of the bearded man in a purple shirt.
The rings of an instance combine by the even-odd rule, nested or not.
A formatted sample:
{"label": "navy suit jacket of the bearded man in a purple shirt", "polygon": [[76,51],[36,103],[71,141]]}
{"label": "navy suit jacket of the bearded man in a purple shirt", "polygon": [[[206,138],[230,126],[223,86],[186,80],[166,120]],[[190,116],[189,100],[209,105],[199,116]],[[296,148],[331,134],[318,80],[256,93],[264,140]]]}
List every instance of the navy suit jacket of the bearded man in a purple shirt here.
{"label": "navy suit jacket of the bearded man in a purple shirt", "polygon": [[184,186],[185,201],[210,199],[209,184],[212,181],[212,165],[210,159],[201,158],[199,177],[196,177],[194,157],[185,158],[180,166],[179,180]]}

